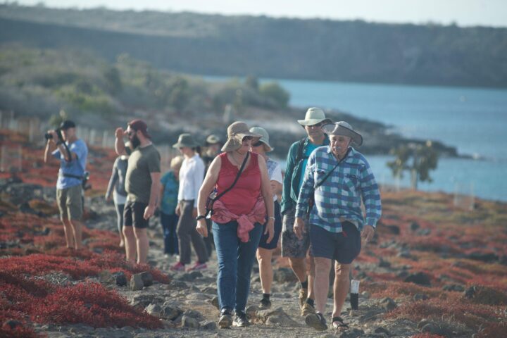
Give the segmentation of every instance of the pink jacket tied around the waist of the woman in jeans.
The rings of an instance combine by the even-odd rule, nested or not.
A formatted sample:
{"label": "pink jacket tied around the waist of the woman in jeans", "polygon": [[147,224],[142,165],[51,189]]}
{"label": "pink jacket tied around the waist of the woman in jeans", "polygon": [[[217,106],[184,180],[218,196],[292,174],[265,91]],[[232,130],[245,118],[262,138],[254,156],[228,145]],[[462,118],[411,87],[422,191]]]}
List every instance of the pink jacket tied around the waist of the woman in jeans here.
{"label": "pink jacket tied around the waist of the woman in jeans", "polygon": [[220,201],[215,201],[213,204],[213,215],[211,219],[216,223],[229,223],[232,220],[236,220],[238,223],[237,236],[240,241],[246,243],[249,241],[249,232],[255,226],[255,223],[265,223],[265,205],[262,196],[256,201],[252,210],[248,215],[234,215],[225,208],[225,205]]}

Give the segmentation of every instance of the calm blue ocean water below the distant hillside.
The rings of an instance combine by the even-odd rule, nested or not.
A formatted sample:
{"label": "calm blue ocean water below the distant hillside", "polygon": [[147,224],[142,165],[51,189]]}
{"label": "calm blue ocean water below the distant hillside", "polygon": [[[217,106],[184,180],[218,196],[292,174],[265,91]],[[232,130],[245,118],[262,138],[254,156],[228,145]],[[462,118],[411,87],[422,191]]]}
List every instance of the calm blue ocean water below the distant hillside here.
{"label": "calm blue ocean water below the distant hillside", "polygon": [[[433,182],[420,182],[418,189],[507,201],[507,89],[283,79],[261,82],[273,80],[291,94],[292,106],[337,109],[387,124],[406,137],[441,141],[455,146],[458,154],[476,158],[440,158],[438,168],[430,173]],[[390,159],[387,154],[368,156],[377,181],[408,187],[408,173],[401,181],[392,177],[385,164]]]}

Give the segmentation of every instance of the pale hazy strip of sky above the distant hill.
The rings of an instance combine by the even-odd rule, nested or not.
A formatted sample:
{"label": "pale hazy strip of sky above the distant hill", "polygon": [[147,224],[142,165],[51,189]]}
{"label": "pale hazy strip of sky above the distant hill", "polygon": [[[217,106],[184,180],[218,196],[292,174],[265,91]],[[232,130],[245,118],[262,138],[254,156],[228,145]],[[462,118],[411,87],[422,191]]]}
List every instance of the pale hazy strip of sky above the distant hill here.
{"label": "pale hazy strip of sky above the distant hill", "polygon": [[[6,1],[2,1],[6,2]],[[8,1],[7,1],[8,2]],[[363,19],[384,23],[434,23],[507,27],[507,0],[19,0],[48,7],[153,9],[290,18]]]}

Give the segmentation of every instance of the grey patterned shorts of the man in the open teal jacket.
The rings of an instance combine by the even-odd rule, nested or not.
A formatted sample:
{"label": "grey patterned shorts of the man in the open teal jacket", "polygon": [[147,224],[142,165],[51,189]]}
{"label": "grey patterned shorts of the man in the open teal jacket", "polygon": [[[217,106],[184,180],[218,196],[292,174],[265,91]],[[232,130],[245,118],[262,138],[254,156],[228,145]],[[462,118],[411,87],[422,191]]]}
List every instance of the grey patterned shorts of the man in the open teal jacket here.
{"label": "grey patterned shorts of the man in the open teal jacket", "polygon": [[294,220],[296,208],[290,208],[285,211],[282,223],[282,257],[305,258],[310,247],[310,229],[308,218],[305,218],[305,232],[303,239],[299,239],[294,234]]}

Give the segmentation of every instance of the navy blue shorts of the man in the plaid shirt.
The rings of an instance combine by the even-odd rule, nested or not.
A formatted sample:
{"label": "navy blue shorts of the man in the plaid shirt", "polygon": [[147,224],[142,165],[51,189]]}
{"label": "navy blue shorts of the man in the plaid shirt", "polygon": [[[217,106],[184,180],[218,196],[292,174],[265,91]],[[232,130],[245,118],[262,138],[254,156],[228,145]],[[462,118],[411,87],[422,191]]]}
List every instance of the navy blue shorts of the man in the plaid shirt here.
{"label": "navy blue shorts of the man in the plaid shirt", "polygon": [[341,264],[350,264],[361,252],[361,232],[350,222],[342,223],[342,232],[338,233],[312,225],[310,243],[313,257],[329,258]]}

